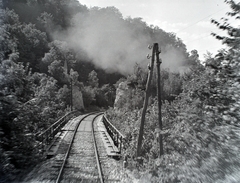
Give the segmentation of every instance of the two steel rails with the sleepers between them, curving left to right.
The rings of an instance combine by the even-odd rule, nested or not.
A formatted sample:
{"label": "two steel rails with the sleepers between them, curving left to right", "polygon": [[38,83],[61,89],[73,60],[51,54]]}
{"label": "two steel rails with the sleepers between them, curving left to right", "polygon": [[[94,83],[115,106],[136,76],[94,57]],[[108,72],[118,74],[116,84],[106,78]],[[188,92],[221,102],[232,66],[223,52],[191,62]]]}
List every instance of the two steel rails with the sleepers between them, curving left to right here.
{"label": "two steel rails with the sleepers between them, curving left to right", "polygon": [[104,182],[93,131],[93,122],[101,114],[85,115],[69,127],[64,137],[65,145],[59,149],[65,154],[53,166],[53,169],[58,169],[53,171],[52,176],[54,179],[58,172],[56,183]]}

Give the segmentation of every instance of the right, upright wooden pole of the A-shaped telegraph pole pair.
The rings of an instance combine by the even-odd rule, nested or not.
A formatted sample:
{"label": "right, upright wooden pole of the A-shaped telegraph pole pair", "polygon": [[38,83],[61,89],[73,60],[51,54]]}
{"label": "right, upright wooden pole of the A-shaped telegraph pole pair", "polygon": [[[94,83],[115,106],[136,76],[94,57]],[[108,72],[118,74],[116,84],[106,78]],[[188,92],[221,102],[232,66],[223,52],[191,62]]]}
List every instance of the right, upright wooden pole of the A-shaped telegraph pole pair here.
{"label": "right, upright wooden pole of the A-shaped telegraph pole pair", "polygon": [[[160,51],[158,49],[158,44],[156,45],[156,58],[157,58],[157,95],[158,95],[158,124],[160,132],[162,131],[162,98],[161,98],[161,75],[160,75],[160,64],[162,63],[159,59]],[[159,146],[160,146],[160,156],[163,155],[163,139],[162,134],[159,134]]]}

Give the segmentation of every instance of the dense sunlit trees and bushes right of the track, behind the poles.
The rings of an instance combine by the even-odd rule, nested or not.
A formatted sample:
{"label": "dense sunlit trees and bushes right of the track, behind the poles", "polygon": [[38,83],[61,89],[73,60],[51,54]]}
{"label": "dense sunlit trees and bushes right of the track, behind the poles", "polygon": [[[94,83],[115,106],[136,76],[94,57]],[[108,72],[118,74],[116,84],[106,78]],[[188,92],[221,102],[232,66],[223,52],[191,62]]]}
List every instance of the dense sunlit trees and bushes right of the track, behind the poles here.
{"label": "dense sunlit trees and bushes right of the track, behind the poles", "polygon": [[[232,8],[228,15],[239,19],[240,5],[234,1],[226,2]],[[228,49],[220,50],[215,57],[208,53],[204,66],[200,64],[197,52],[192,51],[188,57],[189,71],[177,77],[179,82],[176,84],[181,83],[178,92],[174,93],[177,96],[171,102],[163,101],[162,157],[159,157],[158,132],[155,130],[158,120],[155,99],[146,116],[143,163],[140,164],[135,152],[141,111],[135,108],[108,111],[111,121],[126,135],[124,147],[128,169],[133,170],[141,182],[240,181],[239,28],[232,27],[227,19],[223,20],[223,23],[212,22],[226,30],[228,36],[213,35],[222,39]],[[162,75],[164,72],[162,70]],[[172,81],[165,81],[165,78],[169,77],[162,77],[162,95],[164,90],[169,91],[165,83]],[[175,86],[171,85],[170,90]],[[134,170],[136,167],[138,173]]]}

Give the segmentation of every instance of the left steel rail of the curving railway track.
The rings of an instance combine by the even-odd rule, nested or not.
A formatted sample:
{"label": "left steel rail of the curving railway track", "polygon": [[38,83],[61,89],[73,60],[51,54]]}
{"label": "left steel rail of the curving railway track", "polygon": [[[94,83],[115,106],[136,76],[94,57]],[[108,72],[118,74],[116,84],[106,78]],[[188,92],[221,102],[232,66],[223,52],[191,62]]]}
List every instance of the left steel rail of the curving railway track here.
{"label": "left steel rail of the curving railway track", "polygon": [[61,181],[61,177],[62,177],[62,175],[63,175],[63,169],[64,169],[64,166],[65,166],[65,164],[66,164],[66,162],[67,162],[67,159],[68,159],[68,157],[69,157],[69,153],[70,153],[70,150],[71,150],[71,148],[72,148],[72,144],[73,144],[73,141],[74,141],[74,139],[75,139],[75,135],[76,135],[76,133],[77,133],[77,130],[78,130],[78,127],[79,127],[80,123],[81,123],[85,118],[87,118],[88,116],[91,116],[91,115],[96,114],[96,113],[98,113],[98,112],[91,112],[91,113],[89,113],[89,114],[86,114],[86,115],[78,122],[78,124],[76,125],[76,127],[75,127],[75,129],[74,129],[74,132],[73,132],[73,137],[72,137],[71,142],[70,142],[70,144],[69,144],[69,146],[68,146],[67,153],[65,154],[65,157],[64,157],[64,160],[63,160],[61,169],[60,169],[60,171],[59,171],[59,174],[58,174],[56,183],[59,183],[59,182]]}

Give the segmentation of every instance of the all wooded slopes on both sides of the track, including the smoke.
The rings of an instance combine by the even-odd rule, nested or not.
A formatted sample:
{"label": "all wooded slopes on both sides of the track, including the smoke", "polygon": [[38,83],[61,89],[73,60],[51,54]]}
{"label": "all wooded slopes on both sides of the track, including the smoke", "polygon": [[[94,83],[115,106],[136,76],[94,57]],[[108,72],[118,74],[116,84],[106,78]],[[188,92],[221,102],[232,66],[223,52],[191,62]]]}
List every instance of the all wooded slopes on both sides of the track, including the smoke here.
{"label": "all wooded slopes on both sides of the track, including the smoke", "polygon": [[[40,161],[35,136],[70,111],[71,88],[74,109],[108,109],[127,137],[127,168],[138,167],[138,177],[148,175],[146,181],[152,182],[240,181],[239,29],[213,20],[228,31],[229,38],[214,36],[230,49],[207,55],[203,65],[197,50],[187,52],[174,33],[141,18],[123,18],[115,7],[89,9],[77,0],[0,2],[0,182],[14,180]],[[239,6],[229,4],[230,15],[237,16]],[[155,130],[155,77],[139,165],[135,151],[147,46],[155,42],[163,59],[164,156],[158,155]],[[125,95],[114,104],[119,84]]]}

